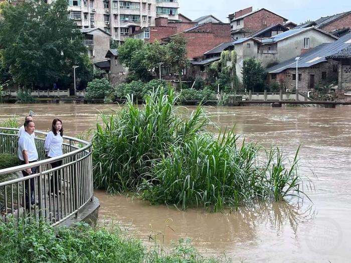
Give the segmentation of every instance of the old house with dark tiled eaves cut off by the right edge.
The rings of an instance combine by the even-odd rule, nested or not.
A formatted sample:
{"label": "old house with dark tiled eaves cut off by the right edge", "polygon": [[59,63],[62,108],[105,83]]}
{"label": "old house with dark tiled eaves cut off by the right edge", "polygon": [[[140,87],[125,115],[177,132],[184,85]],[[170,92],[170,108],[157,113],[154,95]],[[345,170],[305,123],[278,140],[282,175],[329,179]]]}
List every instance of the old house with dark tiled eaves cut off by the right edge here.
{"label": "old house with dark tiled eaves cut off by the right edge", "polygon": [[338,88],[351,90],[351,40],[346,41],[346,44],[349,44],[347,48],[327,56],[326,59],[338,62]]}

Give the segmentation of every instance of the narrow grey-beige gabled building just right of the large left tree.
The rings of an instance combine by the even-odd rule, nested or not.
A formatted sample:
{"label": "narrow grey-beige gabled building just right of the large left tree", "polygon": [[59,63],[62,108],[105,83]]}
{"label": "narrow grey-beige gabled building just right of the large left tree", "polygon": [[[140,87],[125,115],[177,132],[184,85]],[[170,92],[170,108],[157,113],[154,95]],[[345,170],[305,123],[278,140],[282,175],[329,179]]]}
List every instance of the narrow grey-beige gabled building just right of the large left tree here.
{"label": "narrow grey-beige gabled building just right of the large left tree", "polygon": [[100,28],[87,28],[80,30],[84,36],[84,45],[93,63],[105,60],[110,47],[111,35]]}

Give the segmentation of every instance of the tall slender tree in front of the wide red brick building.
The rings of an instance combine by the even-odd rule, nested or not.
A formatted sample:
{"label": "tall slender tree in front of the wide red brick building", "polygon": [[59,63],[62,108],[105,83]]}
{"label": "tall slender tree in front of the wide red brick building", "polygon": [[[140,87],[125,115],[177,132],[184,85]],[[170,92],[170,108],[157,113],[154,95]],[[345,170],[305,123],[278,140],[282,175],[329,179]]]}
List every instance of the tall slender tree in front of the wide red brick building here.
{"label": "tall slender tree in front of the wide red brick building", "polygon": [[182,34],[175,36],[167,44],[166,62],[178,71],[179,83],[182,89],[182,71],[190,65],[190,60],[187,57],[187,39]]}

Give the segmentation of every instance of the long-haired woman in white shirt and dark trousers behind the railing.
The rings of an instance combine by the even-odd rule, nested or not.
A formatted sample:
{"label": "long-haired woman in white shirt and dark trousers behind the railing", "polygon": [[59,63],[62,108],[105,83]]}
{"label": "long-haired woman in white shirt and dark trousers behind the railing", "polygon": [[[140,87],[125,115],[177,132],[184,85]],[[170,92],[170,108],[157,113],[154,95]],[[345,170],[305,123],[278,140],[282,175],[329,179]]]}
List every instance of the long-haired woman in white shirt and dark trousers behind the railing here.
{"label": "long-haired woman in white shirt and dark trousers behind the railing", "polygon": [[[63,126],[62,121],[54,119],[52,123],[51,131],[46,135],[45,139],[45,152],[49,158],[57,157],[62,155],[62,143],[63,143]],[[51,167],[55,168],[62,165],[62,160],[52,162]],[[57,170],[51,176],[50,190],[48,194],[56,196],[61,194],[61,170]],[[62,193],[63,194],[63,193]]]}

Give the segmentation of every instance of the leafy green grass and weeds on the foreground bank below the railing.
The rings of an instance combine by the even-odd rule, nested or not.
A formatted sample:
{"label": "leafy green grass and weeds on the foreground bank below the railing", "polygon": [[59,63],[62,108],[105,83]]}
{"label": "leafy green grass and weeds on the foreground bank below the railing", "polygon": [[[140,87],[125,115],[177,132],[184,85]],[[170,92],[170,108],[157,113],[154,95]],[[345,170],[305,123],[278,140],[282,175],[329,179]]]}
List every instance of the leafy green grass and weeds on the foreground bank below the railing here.
{"label": "leafy green grass and weeds on the foreground bank below the railing", "polygon": [[221,258],[205,258],[187,240],[170,251],[145,248],[140,240],[125,236],[119,229],[52,227],[31,218],[18,223],[0,221],[0,262],[90,262],[90,263],[215,263]]}

